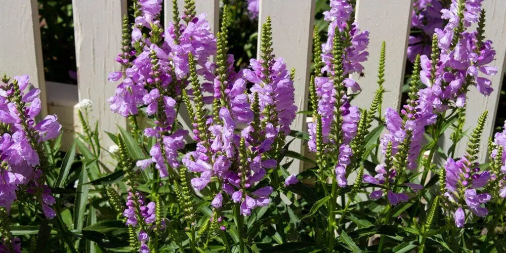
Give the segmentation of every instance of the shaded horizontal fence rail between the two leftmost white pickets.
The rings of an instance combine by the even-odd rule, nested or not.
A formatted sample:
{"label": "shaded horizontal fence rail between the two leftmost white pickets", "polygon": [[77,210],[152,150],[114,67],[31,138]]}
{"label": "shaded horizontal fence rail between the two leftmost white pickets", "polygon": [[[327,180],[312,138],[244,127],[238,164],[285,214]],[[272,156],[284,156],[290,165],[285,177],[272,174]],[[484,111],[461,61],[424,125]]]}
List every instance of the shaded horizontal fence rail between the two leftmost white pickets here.
{"label": "shaded horizontal fence rail between the two leftmost white pickets", "polygon": [[76,85],[46,81],[48,113],[56,114],[58,121],[62,124],[63,137],[60,149],[66,151],[76,135],[80,131],[77,109],[79,96]]}

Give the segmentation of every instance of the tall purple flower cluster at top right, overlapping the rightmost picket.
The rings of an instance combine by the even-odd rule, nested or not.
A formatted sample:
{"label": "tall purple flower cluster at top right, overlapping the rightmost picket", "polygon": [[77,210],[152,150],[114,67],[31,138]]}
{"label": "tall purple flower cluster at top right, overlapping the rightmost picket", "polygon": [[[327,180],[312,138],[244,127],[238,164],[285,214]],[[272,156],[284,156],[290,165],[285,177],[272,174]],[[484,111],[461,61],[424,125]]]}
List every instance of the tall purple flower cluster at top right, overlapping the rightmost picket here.
{"label": "tall purple flower cluster at top right, overlapping the rightmost picket", "polygon": [[[485,96],[493,91],[490,79],[478,76],[478,72],[489,76],[497,73],[496,67],[488,66],[496,53],[492,41],[483,37],[481,3],[452,1],[449,9],[442,9],[441,17],[447,24],[435,29],[431,59],[421,56],[420,78],[427,88],[420,91],[420,98],[439,112],[453,105],[463,107],[471,85]],[[476,23],[477,30],[468,31]]]}

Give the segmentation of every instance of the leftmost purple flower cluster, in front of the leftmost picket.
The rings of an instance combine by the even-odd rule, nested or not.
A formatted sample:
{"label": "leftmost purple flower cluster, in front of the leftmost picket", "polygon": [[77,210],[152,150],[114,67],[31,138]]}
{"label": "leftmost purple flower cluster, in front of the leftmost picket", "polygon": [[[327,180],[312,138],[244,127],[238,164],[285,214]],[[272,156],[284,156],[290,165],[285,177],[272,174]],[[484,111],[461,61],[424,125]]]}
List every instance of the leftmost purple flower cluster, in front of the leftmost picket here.
{"label": "leftmost purple flower cluster, in front of the leftmost picket", "polygon": [[35,122],[42,108],[40,90],[31,89],[29,76],[4,77],[0,82],[0,206],[10,209],[16,191],[28,187],[41,204],[44,215],[51,219],[55,211],[50,207],[55,199],[45,185],[49,169],[41,143],[60,135],[62,126],[56,115],[48,115]]}

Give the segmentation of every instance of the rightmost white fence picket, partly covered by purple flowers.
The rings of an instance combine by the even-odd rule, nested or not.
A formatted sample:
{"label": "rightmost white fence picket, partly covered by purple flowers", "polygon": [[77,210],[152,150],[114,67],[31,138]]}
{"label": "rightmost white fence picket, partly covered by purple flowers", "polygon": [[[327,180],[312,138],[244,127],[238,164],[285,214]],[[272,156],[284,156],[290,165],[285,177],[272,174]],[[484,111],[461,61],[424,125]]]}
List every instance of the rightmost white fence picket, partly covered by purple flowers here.
{"label": "rightmost white fence picket, partly covered by purple flowers", "polygon": [[[497,75],[491,78],[494,92],[485,97],[474,87],[471,87],[467,99],[467,117],[464,129],[469,129],[468,133],[475,128],[478,117],[484,110],[488,110],[487,122],[481,139],[480,162],[485,162],[487,154],[488,137],[492,136],[495,116],[498,110],[499,95],[501,91],[504,70],[506,69],[506,1],[485,0],[483,8],[486,11],[485,38],[493,41],[493,47],[497,52],[496,59],[492,65],[497,67]],[[463,153],[468,138],[463,138],[455,152],[458,157]],[[451,144],[450,144],[451,145]]]}

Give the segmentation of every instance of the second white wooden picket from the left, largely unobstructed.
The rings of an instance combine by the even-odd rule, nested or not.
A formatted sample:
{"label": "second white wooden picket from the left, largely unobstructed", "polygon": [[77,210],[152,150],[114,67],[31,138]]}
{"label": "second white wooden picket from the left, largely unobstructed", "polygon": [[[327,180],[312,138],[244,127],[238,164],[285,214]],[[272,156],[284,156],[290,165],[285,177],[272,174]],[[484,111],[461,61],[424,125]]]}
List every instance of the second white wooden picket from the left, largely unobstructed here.
{"label": "second white wooden picket from the left, largely unobstructed", "polygon": [[110,72],[121,69],[114,59],[121,46],[126,0],[73,0],[72,7],[79,100],[92,100],[90,120],[99,121],[102,145],[107,149],[114,143],[104,137],[104,131],[115,134],[117,125],[126,126],[126,120],[113,113],[107,102],[117,85],[109,82],[107,77]]}

